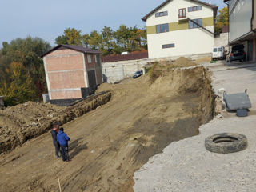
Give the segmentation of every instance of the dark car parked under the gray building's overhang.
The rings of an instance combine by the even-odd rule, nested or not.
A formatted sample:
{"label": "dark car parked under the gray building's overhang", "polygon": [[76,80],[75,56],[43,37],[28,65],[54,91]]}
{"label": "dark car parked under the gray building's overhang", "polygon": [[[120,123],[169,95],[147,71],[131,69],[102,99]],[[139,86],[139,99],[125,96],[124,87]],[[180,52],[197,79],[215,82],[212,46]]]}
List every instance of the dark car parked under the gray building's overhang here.
{"label": "dark car parked under the gray building's overhang", "polygon": [[226,62],[242,62],[246,61],[246,52],[244,51],[245,46],[236,45],[232,46],[228,57],[226,58]]}

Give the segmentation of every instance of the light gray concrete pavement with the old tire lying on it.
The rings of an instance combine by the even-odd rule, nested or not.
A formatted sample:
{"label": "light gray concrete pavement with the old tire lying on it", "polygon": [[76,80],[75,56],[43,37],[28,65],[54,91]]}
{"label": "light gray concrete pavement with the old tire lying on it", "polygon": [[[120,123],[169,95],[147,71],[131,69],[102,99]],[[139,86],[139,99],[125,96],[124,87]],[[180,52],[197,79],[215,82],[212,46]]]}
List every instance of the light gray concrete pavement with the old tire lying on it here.
{"label": "light gray concrete pavement with the old tire lying on it", "polygon": [[[253,105],[249,116],[238,118],[223,112],[202,125],[198,136],[171,143],[134,173],[135,192],[256,191],[256,65],[217,62],[208,67],[213,71],[216,94],[220,88],[230,94],[248,89]],[[245,134],[248,147],[234,154],[206,150],[205,138],[222,132]]]}

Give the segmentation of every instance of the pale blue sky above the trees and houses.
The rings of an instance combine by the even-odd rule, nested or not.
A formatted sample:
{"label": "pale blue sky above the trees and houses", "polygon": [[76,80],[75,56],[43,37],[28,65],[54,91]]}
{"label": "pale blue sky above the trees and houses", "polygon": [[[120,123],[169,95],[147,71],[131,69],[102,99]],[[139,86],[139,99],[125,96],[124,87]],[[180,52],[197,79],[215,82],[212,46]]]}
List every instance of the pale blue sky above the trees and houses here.
{"label": "pale blue sky above the trees and houses", "polygon": [[[223,0],[208,0],[221,10]],[[82,30],[102,30],[110,26],[146,26],[141,18],[165,0],[0,0],[0,47],[15,38],[39,37],[51,46],[68,27]]]}

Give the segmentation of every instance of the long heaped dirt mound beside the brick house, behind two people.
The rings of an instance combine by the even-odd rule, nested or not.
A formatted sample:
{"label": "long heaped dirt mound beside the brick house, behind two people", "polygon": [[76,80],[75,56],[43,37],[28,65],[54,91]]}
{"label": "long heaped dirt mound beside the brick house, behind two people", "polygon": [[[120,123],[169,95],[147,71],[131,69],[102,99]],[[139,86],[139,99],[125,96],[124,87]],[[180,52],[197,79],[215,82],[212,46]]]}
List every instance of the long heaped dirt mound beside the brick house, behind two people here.
{"label": "long heaped dirt mound beside the brick house, behind two people", "polygon": [[64,124],[94,110],[110,101],[110,97],[110,92],[105,92],[70,107],[26,102],[0,110],[0,154],[45,133],[55,121]]}

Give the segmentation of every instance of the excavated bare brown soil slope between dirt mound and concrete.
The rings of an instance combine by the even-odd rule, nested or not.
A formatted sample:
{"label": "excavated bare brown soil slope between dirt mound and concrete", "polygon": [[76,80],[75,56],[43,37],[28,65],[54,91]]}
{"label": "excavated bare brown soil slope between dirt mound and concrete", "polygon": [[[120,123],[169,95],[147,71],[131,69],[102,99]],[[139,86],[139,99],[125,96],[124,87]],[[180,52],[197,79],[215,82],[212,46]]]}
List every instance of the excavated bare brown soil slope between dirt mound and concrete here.
{"label": "excavated bare brown soil slope between dirt mound and concrete", "polygon": [[50,133],[42,134],[0,156],[0,191],[58,191],[57,175],[64,192],[133,191],[135,170],[213,118],[209,76],[194,66],[154,82],[144,75],[102,84],[98,92],[109,90],[110,102],[63,125],[72,161],[56,159]]}

